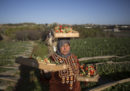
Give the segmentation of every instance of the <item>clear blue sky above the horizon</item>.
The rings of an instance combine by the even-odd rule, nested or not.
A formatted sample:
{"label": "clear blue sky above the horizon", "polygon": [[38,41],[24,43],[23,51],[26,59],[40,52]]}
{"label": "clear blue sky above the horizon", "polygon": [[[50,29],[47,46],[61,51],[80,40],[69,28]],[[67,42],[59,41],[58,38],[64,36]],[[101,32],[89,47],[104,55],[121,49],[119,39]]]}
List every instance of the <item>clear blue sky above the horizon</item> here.
{"label": "clear blue sky above the horizon", "polygon": [[130,24],[130,0],[0,0],[0,24]]}

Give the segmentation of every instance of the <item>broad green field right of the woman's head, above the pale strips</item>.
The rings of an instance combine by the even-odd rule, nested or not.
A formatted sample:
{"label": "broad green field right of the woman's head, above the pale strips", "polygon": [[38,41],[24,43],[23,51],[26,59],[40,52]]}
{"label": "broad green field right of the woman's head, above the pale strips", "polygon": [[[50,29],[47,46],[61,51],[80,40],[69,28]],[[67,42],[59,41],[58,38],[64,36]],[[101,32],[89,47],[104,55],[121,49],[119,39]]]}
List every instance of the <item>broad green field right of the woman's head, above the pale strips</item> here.
{"label": "broad green field right of the woman's head, above the pale strips", "polygon": [[129,38],[86,38],[71,40],[71,51],[81,57],[129,55]]}

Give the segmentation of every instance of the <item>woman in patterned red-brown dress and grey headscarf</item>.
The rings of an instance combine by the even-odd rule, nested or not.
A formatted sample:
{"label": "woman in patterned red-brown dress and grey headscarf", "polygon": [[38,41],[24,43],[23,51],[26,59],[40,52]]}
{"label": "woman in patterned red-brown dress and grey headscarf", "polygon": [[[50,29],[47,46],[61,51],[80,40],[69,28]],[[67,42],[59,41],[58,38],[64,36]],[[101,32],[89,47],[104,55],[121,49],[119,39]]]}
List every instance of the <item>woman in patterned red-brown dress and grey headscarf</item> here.
{"label": "woman in patterned red-brown dress and grey headscarf", "polygon": [[[70,52],[70,39],[58,39],[57,51],[50,58],[55,63],[66,64],[69,67],[50,73],[49,91],[80,91],[80,82],[76,80],[77,75],[79,75],[79,62],[77,57]],[[45,78],[49,77],[48,72],[44,73],[47,73]]]}

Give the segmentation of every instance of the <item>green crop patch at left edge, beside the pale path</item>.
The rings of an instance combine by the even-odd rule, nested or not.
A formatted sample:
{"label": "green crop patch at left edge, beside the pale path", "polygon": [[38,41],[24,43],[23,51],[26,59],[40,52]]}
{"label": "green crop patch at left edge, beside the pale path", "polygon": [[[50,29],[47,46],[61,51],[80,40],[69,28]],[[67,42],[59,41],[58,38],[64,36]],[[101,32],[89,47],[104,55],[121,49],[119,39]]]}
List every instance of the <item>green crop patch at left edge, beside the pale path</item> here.
{"label": "green crop patch at left edge, beside the pale path", "polygon": [[13,64],[15,56],[24,52],[30,43],[25,42],[12,42],[1,41],[0,42],[0,65]]}

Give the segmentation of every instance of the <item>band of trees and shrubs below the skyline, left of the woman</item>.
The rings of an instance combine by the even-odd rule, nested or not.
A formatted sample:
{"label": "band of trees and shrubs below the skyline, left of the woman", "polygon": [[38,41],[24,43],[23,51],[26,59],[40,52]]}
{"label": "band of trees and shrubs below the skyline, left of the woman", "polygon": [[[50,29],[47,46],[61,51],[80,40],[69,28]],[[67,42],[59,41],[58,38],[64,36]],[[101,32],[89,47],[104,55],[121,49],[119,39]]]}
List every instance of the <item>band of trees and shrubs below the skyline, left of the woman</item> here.
{"label": "band of trees and shrubs below the skyline, left of the woman", "polygon": [[[6,24],[0,28],[3,35],[16,40],[39,40],[45,25],[40,24]],[[21,34],[21,35],[20,35]],[[19,38],[20,37],[20,38]]]}

